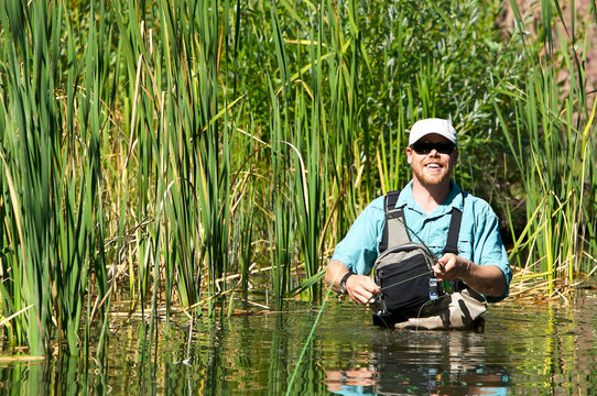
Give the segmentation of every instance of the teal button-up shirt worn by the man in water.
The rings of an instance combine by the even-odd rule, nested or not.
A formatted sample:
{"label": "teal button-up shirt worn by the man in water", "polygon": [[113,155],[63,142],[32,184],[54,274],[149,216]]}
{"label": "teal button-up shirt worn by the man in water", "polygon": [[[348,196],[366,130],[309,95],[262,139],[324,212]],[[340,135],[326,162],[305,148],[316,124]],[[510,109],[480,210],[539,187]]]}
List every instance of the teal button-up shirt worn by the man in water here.
{"label": "teal button-up shirt worn by the man in water", "polygon": [[[370,274],[379,254],[386,216],[384,197],[371,201],[350,227],[346,237],[336,245],[332,260],[343,262],[356,274]],[[412,182],[400,193],[398,207],[404,207],[404,218],[413,242],[423,242],[438,257],[446,245],[452,208],[463,211],[458,235],[458,255],[478,265],[496,265],[503,273],[507,289],[500,297],[487,297],[488,301],[500,301],[508,296],[512,271],[499,232],[498,217],[485,200],[451,182],[451,194],[446,201],[427,215],[414,201]]]}

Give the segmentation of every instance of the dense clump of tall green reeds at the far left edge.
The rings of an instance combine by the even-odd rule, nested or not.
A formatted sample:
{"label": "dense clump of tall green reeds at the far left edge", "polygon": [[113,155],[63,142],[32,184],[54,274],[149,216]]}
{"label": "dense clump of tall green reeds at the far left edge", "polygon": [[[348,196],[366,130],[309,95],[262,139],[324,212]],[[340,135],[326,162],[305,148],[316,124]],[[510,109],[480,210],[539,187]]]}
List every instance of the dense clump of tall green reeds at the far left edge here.
{"label": "dense clump of tall green reeds at the far left edge", "polygon": [[[84,342],[79,324],[89,274],[96,276],[99,296],[107,288],[98,204],[104,120],[99,81],[106,70],[94,62],[98,24],[91,11],[79,58],[64,3],[6,6],[0,18],[11,40],[2,46],[8,95],[0,154],[2,185],[8,186],[2,201],[10,208],[3,210],[10,215],[2,227],[12,252],[2,260],[3,310],[33,305],[12,326],[15,343],[26,343],[31,353],[45,353],[53,322],[58,341],[64,337],[68,351],[77,353]],[[61,40],[67,48],[66,66]]]}

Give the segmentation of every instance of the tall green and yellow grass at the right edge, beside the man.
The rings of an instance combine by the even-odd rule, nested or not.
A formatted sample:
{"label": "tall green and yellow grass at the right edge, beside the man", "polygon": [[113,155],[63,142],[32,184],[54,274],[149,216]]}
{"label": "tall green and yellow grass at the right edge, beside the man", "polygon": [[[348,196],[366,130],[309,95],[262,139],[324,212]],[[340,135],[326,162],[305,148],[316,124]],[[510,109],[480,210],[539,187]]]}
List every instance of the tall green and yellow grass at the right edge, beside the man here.
{"label": "tall green and yellow grass at the right edge, beside the man", "polygon": [[[587,37],[591,24],[576,26],[574,12],[566,23],[561,12],[558,18],[553,15],[554,10],[560,10],[557,1],[542,3],[544,18],[557,19],[555,36],[550,31],[544,41],[534,41],[522,33],[524,20],[514,8],[529,74],[523,86],[500,90],[514,99],[513,119],[503,117],[496,103],[525,191],[528,226],[517,235],[511,256],[527,255],[522,266],[542,274],[550,293],[556,280],[572,285],[596,264],[593,132],[597,101],[586,96],[582,59],[589,43],[582,37]],[[573,35],[578,31],[584,34],[580,38]],[[562,75],[567,76],[564,86]]]}

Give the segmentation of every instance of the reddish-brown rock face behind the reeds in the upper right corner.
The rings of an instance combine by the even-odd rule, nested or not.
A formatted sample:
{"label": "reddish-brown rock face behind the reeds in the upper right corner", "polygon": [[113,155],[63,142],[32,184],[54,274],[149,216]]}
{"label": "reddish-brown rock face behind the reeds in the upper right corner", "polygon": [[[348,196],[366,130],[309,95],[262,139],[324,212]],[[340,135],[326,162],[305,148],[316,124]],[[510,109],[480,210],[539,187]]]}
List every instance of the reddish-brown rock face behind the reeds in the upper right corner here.
{"label": "reddish-brown rock face behind the reeds in the upper right corner", "polygon": [[[572,41],[572,35],[575,35],[576,53],[580,62],[585,58],[585,89],[587,92],[587,100],[589,105],[593,103],[595,96],[597,95],[597,16],[593,10],[591,0],[576,0],[574,1],[574,33],[572,31],[572,18],[571,18],[571,1],[560,1],[562,10],[562,20],[558,18],[557,9],[552,9],[553,23],[552,34],[554,41],[560,41],[560,35],[568,37]],[[524,21],[528,21],[527,30],[533,35],[543,29],[543,18],[541,1],[536,0],[515,0],[519,12]],[[553,4],[553,2],[550,1]],[[510,6],[510,1],[504,0],[502,2],[503,12],[502,18],[499,21],[499,25],[507,34],[511,34],[515,29],[514,13]],[[588,37],[588,45],[586,54],[583,53],[584,38]],[[565,82],[569,78],[567,72],[560,75],[561,81]],[[590,94],[593,92],[593,94]]]}

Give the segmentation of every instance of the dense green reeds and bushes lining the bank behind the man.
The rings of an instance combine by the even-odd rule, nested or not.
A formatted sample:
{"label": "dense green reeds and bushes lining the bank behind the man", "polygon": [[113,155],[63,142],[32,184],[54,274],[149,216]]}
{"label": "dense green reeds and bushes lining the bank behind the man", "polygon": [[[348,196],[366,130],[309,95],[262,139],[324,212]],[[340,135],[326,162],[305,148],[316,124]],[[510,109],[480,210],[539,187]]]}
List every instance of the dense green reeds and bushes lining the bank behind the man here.
{"label": "dense green reeds and bushes lining the bank behind the man", "polygon": [[534,35],[512,6],[504,36],[497,1],[2,0],[4,346],[76,354],[99,328],[101,351],[115,300],[151,340],[159,314],[230,315],[256,287],[322,298],[425,117],[453,120],[458,183],[507,224],[512,292],[582,282],[597,13],[544,0]]}

